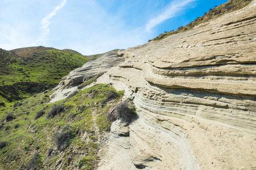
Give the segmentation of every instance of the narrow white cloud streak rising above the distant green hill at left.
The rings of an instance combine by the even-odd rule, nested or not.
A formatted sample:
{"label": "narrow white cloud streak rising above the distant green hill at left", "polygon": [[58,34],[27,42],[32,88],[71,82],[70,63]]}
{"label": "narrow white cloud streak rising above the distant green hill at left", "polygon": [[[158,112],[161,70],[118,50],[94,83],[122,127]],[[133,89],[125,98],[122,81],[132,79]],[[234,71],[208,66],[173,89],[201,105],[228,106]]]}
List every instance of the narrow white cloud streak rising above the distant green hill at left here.
{"label": "narrow white cloud streak rising above the distant green hill at left", "polygon": [[47,36],[49,35],[50,28],[49,25],[51,24],[51,18],[57,14],[58,10],[60,10],[65,4],[67,0],[63,0],[60,5],[56,6],[54,10],[48,14],[45,18],[41,19],[41,27],[40,27],[40,36],[39,38],[33,43],[33,45],[37,45],[39,42],[44,44]]}

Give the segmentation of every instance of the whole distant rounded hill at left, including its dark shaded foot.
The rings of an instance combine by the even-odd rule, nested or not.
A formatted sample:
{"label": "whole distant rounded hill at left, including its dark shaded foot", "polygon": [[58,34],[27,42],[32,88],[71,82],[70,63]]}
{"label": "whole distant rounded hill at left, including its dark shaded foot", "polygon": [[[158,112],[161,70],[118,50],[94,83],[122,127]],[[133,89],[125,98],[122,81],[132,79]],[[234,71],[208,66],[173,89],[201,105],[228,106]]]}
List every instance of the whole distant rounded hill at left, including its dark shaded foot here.
{"label": "whole distant rounded hill at left, including its dark shaded foot", "polygon": [[[14,96],[18,100],[24,96],[23,92],[29,92],[28,88],[39,92],[54,87],[63,76],[88,61],[87,57],[69,49],[44,46],[0,49],[0,95],[9,101]],[[17,93],[11,95],[14,91]]]}

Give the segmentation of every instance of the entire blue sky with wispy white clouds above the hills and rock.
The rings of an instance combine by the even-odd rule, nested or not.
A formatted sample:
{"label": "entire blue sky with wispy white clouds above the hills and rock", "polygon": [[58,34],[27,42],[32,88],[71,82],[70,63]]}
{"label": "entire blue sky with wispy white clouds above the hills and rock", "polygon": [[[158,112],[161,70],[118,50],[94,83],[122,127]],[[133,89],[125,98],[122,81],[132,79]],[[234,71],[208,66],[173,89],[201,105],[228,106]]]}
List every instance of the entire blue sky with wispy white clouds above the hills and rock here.
{"label": "entire blue sky with wispy white clouds above the hills and rock", "polygon": [[141,45],[228,0],[1,0],[0,48],[84,55]]}

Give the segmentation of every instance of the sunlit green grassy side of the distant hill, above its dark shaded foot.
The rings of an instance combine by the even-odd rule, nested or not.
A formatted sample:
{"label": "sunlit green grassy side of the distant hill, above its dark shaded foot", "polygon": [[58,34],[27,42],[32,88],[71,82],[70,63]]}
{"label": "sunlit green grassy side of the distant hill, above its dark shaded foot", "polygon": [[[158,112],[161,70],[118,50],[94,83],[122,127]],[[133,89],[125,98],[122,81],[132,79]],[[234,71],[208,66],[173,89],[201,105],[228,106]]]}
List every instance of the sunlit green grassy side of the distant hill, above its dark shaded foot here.
{"label": "sunlit green grassy side of the distant hill, above its dark shaded foot", "polygon": [[70,71],[89,61],[72,50],[53,48],[30,50],[26,55],[15,50],[0,50],[0,59],[0,86],[16,82],[58,83]]}

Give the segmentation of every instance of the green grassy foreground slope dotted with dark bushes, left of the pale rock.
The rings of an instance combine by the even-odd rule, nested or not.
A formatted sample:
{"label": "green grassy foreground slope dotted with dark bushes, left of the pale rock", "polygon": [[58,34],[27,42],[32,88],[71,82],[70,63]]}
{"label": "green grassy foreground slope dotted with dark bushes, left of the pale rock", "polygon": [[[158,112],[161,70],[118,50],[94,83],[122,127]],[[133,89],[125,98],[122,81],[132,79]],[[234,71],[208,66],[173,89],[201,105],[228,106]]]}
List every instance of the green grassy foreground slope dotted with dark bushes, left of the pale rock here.
{"label": "green grassy foreground slope dotted with dark bushes, left of the pale rock", "polygon": [[[69,99],[58,101],[65,111],[54,118],[46,118],[54,104],[48,104],[49,95],[37,94],[20,101],[19,107],[7,107],[0,111],[0,142],[5,141],[6,146],[0,148],[0,169],[24,169],[35,152],[39,153],[37,162],[39,169],[72,169],[75,166],[81,169],[93,169],[96,165],[96,153],[99,149],[98,139],[104,131],[110,129],[107,112],[114,107],[121,97],[102,104],[110,90],[106,84],[98,84],[87,90],[79,91]],[[122,95],[123,92],[118,92]],[[45,108],[45,114],[37,120],[36,113]],[[16,118],[10,122],[5,121],[8,113]],[[73,113],[73,117],[70,114]],[[72,115],[72,114],[71,114]],[[19,125],[15,129],[15,125]],[[66,143],[66,148],[57,150],[54,144],[54,135],[64,126],[70,125],[72,139]],[[8,127],[10,128],[6,130]],[[54,148],[50,156],[48,151]]]}

